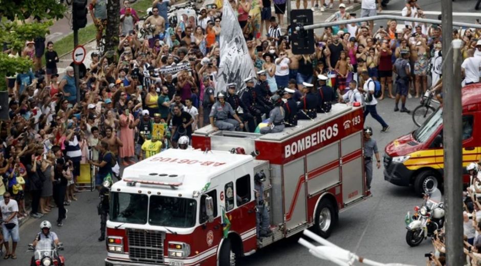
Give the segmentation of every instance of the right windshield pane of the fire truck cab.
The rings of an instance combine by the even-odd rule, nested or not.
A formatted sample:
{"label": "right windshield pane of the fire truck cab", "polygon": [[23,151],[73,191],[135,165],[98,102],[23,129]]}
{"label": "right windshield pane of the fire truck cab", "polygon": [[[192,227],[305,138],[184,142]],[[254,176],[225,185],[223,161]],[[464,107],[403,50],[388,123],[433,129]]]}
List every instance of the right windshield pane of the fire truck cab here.
{"label": "right windshield pane of the fire truck cab", "polygon": [[153,226],[195,226],[197,202],[191,198],[150,196],[148,221]]}

